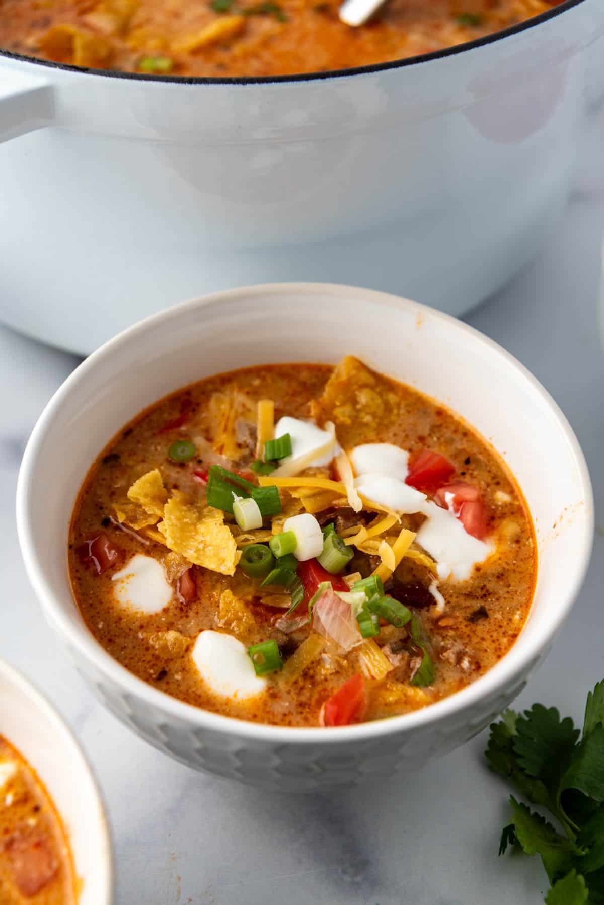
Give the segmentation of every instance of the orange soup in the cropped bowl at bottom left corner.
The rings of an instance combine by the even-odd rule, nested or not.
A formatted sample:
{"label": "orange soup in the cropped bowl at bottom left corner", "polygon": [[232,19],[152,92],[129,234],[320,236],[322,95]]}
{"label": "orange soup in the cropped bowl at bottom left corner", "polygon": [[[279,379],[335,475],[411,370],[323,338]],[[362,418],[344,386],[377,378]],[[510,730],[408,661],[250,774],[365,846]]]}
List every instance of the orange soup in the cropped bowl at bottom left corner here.
{"label": "orange soup in the cropped bowl at bottom left corner", "polygon": [[61,818],[24,757],[0,736],[0,902],[75,905],[72,855]]}

